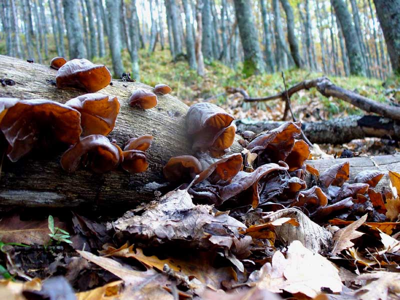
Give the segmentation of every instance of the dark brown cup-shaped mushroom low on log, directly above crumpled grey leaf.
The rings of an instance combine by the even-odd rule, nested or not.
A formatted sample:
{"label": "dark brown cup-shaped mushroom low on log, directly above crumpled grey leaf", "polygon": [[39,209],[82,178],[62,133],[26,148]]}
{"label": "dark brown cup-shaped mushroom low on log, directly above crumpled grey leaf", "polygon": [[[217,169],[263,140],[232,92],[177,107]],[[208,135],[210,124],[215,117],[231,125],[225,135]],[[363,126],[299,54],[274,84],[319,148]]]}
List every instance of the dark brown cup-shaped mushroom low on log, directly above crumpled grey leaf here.
{"label": "dark brown cup-shaped mushroom low on log, directly above crumpled grey leaf", "polygon": [[196,174],[202,171],[198,159],[191,155],[181,155],[169,158],[162,172],[169,182],[190,182]]}

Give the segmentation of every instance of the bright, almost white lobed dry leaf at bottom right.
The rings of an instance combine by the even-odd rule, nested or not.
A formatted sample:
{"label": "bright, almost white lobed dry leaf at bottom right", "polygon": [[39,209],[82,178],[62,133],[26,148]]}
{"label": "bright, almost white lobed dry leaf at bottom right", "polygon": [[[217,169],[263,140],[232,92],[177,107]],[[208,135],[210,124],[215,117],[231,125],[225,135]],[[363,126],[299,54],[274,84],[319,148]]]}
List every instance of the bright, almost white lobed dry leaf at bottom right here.
{"label": "bright, almost white lobed dry leaf at bottom right", "polygon": [[287,247],[286,257],[276,251],[271,263],[265,263],[259,271],[250,274],[247,284],[271,292],[300,292],[308,297],[315,297],[321,288],[339,292],[343,286],[337,268],[298,240]]}

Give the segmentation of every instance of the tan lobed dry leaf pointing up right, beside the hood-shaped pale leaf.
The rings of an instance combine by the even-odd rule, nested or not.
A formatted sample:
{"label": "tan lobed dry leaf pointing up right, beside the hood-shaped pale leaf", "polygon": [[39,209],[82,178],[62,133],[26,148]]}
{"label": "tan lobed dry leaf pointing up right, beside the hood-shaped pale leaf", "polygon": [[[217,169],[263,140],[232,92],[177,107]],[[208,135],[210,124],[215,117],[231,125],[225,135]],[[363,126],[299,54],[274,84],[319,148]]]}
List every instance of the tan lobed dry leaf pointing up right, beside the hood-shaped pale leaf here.
{"label": "tan lobed dry leaf pointing up right, beside the hood-shaped pale leaf", "polygon": [[361,226],[366,221],[367,214],[363,215],[359,220],[352,222],[340,230],[337,230],[333,235],[333,246],[331,249],[331,254],[339,254],[342,250],[347,249],[354,245],[351,239],[360,237],[362,232],[356,231],[359,226]]}

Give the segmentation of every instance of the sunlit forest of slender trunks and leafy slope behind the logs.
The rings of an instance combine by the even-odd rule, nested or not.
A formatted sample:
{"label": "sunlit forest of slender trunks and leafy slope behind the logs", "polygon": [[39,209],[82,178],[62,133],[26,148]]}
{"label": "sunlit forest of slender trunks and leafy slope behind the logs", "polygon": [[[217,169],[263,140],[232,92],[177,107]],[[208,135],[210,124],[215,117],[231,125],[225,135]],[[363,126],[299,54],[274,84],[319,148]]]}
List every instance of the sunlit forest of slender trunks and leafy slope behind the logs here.
{"label": "sunlit forest of slender trunks and leafy slope behind the logs", "polygon": [[[241,104],[240,95],[225,89],[241,87],[253,97],[274,94],[283,88],[282,70],[288,85],[324,74],[374,100],[398,102],[395,88],[390,88],[397,82],[392,74],[400,69],[398,40],[393,36],[387,45],[384,38],[385,30],[399,26],[398,20],[384,17],[387,11],[400,10],[398,1],[0,3],[1,54],[44,64],[54,56],[86,57],[107,65],[116,78],[130,72],[132,78],[149,85],[164,82],[187,104],[216,102],[238,118],[281,117],[280,101]],[[292,100],[295,113],[304,120],[361,113],[316,92],[299,93]],[[305,111],[305,107],[313,109]]]}

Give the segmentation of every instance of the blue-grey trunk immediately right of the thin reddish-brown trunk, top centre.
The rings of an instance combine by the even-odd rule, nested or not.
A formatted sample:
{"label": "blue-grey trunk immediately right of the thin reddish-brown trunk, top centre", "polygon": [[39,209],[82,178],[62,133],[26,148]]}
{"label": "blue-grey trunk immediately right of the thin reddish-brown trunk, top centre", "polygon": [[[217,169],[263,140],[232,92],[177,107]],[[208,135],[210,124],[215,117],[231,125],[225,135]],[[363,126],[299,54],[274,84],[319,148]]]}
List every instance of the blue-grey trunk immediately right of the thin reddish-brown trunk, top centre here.
{"label": "blue-grey trunk immediately right of the thin reddish-brown trunk, top centre", "polygon": [[201,50],[204,58],[212,61],[212,16],[210,0],[202,0],[201,22]]}

